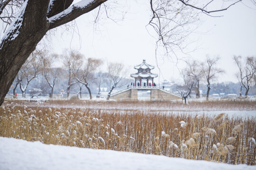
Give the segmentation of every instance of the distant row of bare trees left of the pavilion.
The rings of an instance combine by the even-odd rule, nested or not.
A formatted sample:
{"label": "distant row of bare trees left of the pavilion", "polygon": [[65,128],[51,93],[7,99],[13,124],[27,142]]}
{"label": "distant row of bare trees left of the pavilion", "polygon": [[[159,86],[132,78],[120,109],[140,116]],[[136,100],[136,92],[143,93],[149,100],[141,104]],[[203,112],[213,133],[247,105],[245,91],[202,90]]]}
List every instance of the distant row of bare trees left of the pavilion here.
{"label": "distant row of bare trees left of the pavilion", "polygon": [[[58,59],[62,66],[56,68]],[[82,98],[82,93],[87,93],[92,99],[92,93],[100,97],[102,88],[110,96],[114,88],[127,84],[127,70],[123,64],[107,63],[108,72],[102,72],[101,67],[101,59],[85,58],[74,51],[64,51],[60,55],[34,51],[18,72],[9,94],[15,98],[18,92],[26,98],[29,91],[31,97],[52,98],[57,93],[69,98],[73,93]]]}

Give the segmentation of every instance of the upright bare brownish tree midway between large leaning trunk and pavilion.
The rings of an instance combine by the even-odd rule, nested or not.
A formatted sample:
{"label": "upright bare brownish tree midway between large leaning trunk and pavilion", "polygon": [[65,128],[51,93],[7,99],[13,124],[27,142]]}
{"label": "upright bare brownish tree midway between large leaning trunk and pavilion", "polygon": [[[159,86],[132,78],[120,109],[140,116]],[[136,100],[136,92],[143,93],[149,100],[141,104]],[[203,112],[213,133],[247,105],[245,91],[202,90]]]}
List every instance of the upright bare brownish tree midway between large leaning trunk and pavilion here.
{"label": "upright bare brownish tree midway between large leaning trunk and pavilion", "polygon": [[75,72],[82,66],[82,54],[76,53],[74,51],[67,52],[65,51],[62,55],[64,67],[67,69],[68,85],[67,85],[67,98],[69,97],[71,86],[76,84],[77,81]]}

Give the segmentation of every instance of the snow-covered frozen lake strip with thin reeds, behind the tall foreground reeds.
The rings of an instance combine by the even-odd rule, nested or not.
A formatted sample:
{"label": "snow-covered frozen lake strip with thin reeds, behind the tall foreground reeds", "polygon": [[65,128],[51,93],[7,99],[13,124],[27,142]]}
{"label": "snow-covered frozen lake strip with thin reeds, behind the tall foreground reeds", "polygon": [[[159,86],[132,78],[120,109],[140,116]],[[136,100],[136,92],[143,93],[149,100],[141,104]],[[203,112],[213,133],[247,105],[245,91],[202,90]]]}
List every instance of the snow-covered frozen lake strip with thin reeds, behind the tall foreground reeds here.
{"label": "snow-covered frozen lake strip with thin reeds, behind the tall foreground reeds", "polygon": [[65,103],[65,101],[59,102],[12,102],[12,105],[20,104],[27,105],[27,107],[60,107],[67,109],[83,109],[83,110],[100,110],[101,112],[115,112],[115,113],[128,113],[133,114],[135,112],[142,112],[145,114],[190,114],[216,116],[220,113],[226,113],[229,118],[241,117],[241,118],[256,118],[255,105],[249,105],[245,107],[237,107],[237,105],[228,105],[227,107],[216,105],[214,107],[203,107],[201,105],[183,105],[175,103],[165,102],[106,102],[106,101],[94,101],[94,102],[80,102],[80,103]]}

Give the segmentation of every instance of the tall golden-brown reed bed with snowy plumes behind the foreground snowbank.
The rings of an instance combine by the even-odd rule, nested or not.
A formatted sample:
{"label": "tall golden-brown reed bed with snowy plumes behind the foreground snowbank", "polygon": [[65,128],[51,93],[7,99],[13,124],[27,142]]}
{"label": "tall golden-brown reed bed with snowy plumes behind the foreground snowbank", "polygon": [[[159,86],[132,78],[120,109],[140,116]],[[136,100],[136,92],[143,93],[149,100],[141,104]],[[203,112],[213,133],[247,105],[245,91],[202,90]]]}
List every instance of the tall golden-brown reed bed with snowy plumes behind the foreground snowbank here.
{"label": "tall golden-brown reed bed with snowy plumes behind the foreground snowbank", "polygon": [[256,118],[122,113],[101,109],[0,107],[0,136],[44,144],[255,165]]}

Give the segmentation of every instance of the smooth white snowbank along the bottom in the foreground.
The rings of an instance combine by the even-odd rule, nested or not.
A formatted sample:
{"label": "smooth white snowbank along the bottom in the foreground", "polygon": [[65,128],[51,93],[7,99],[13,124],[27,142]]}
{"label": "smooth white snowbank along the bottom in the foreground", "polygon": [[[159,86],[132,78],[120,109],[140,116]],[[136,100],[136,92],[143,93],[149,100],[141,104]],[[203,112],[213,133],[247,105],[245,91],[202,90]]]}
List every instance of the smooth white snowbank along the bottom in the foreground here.
{"label": "smooth white snowbank along the bottom in the foreground", "polygon": [[256,166],[47,145],[0,137],[0,170],[255,170]]}

